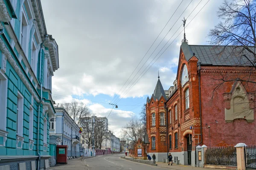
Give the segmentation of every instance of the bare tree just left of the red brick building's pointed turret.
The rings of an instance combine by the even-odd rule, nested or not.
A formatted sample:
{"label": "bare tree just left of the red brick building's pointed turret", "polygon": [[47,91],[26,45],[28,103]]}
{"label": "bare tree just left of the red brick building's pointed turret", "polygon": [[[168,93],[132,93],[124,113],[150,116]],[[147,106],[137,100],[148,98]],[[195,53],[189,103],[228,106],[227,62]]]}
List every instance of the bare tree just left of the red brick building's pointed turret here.
{"label": "bare tree just left of the red brick building's pointed turret", "polygon": [[143,139],[144,137],[144,130],[143,123],[140,122],[137,118],[132,118],[129,123],[125,127],[122,128],[123,132],[123,139],[128,141],[137,142],[137,140]]}

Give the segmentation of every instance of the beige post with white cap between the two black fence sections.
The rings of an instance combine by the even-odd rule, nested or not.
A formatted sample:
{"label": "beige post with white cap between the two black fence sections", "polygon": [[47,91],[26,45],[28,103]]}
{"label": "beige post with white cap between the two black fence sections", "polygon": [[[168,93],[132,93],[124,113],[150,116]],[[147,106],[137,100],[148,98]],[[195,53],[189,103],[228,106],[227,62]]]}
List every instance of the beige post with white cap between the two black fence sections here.
{"label": "beige post with white cap between the two black fence sections", "polygon": [[245,160],[244,160],[244,147],[246,144],[238,143],[236,144],[236,160],[237,160],[237,170],[245,170]]}

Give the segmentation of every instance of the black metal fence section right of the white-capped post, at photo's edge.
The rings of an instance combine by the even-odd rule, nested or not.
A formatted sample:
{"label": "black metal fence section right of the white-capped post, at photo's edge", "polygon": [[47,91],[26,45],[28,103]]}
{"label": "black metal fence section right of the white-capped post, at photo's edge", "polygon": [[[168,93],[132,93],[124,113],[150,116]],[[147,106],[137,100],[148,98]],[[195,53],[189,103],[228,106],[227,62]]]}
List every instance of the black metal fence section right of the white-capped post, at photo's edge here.
{"label": "black metal fence section right of the white-capped post, at photo's edge", "polygon": [[244,147],[245,167],[256,169],[256,146]]}

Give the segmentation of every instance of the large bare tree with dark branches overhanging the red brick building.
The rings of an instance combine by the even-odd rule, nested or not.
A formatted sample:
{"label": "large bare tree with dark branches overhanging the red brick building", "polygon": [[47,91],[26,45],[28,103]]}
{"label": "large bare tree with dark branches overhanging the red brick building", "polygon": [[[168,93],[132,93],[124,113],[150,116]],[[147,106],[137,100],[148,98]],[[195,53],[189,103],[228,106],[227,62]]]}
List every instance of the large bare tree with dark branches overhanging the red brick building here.
{"label": "large bare tree with dark branches overhanging the red brick building", "polygon": [[[217,90],[225,83],[230,84],[236,81],[246,88],[245,93],[255,93],[256,1],[225,0],[218,9],[218,17],[221,21],[210,30],[211,40],[209,42],[212,45],[217,45],[218,56],[227,54],[226,52],[229,51],[230,55],[227,56],[227,59],[235,61],[235,65],[243,67],[248,74],[238,75],[226,72],[216,74],[213,78],[215,80],[213,94],[217,93]],[[237,102],[236,105],[240,105],[243,100]]]}

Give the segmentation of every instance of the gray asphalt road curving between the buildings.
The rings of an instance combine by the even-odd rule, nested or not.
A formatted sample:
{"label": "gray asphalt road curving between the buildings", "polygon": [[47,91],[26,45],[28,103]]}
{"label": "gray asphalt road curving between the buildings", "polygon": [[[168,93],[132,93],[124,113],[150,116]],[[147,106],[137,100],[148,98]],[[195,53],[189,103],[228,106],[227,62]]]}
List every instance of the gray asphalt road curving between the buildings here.
{"label": "gray asphalt road curving between the buildings", "polygon": [[[166,170],[166,168],[140,164],[121,159],[124,154],[114,154],[86,159],[87,170]],[[86,170],[85,168],[85,170]]]}

